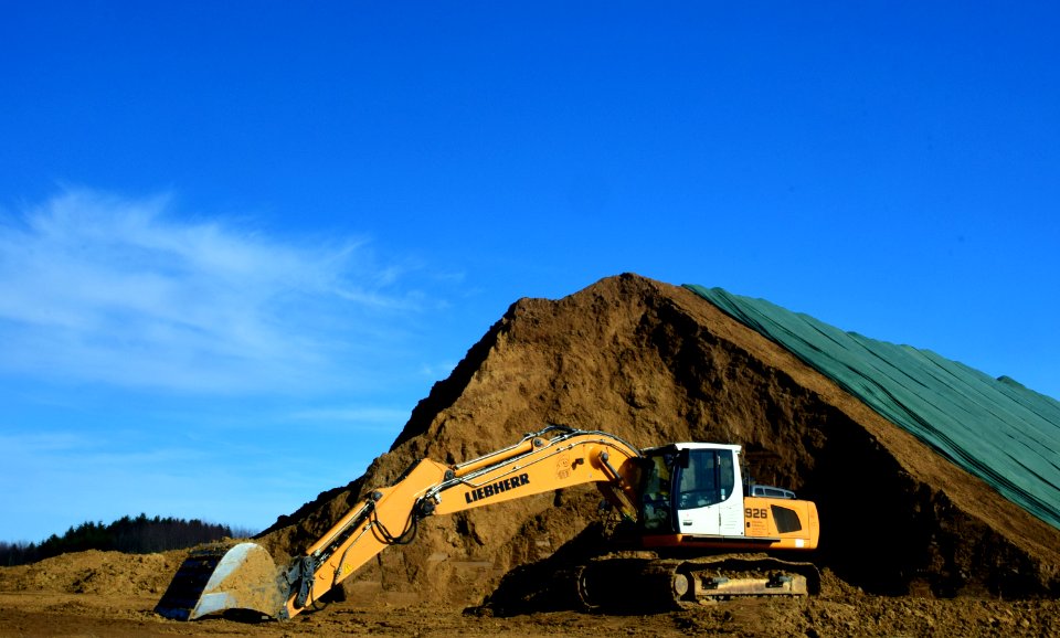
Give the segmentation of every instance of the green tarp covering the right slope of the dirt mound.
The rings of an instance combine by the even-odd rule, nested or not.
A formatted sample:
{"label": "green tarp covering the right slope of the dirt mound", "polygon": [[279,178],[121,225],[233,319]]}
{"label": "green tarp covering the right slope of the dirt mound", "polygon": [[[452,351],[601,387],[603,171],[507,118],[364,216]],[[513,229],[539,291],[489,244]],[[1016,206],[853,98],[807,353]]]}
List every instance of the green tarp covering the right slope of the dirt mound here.
{"label": "green tarp covering the right slope of the dirt mound", "polygon": [[845,332],[764,299],[686,287],[1060,529],[1060,402],[1011,379]]}

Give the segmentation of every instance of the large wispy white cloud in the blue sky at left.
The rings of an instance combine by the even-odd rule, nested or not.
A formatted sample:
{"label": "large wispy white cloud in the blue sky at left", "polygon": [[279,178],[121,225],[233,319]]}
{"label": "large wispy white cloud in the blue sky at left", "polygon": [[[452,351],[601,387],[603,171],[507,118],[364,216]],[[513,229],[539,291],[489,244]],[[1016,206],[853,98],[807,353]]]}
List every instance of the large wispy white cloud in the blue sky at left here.
{"label": "large wispy white cloud in the blue sky at left", "polygon": [[423,302],[364,240],[295,241],[171,208],[70,191],[0,220],[0,372],[299,391],[340,360],[356,375]]}

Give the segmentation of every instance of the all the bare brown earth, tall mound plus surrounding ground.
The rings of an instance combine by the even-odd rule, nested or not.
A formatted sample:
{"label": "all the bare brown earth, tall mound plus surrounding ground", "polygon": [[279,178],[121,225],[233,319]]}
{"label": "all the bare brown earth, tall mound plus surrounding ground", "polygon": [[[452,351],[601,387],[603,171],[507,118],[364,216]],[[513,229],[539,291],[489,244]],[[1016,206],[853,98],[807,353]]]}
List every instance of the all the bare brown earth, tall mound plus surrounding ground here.
{"label": "all the bare brown earth, tall mound plus surrounding ground", "polygon": [[286,562],[414,460],[460,462],[550,423],[640,447],[743,445],[756,480],[817,503],[820,547],[803,560],[822,594],[648,616],[483,607],[598,520],[585,487],[426,519],[343,584],[347,600],[283,624],[156,616],[182,552],[0,568],[0,637],[1060,636],[1060,531],[690,290],[636,275],[513,304],[362,477],[256,542]]}

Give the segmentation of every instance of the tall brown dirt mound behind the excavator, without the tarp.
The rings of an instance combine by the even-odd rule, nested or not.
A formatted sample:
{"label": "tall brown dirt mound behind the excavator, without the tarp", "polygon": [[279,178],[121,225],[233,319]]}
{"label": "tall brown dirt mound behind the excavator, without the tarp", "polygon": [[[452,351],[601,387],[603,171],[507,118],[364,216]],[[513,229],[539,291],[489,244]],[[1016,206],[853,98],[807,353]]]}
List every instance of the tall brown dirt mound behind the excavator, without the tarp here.
{"label": "tall brown dirt mound behind the excavator, without the tarp", "polygon": [[[512,305],[364,476],[259,540],[290,555],[415,459],[459,462],[549,423],[643,447],[742,444],[759,481],[817,502],[815,562],[868,592],[1060,593],[1060,532],[701,297],[636,275]],[[414,543],[380,554],[347,588],[479,603],[504,574],[581,533],[597,502],[585,488],[428,519]]]}

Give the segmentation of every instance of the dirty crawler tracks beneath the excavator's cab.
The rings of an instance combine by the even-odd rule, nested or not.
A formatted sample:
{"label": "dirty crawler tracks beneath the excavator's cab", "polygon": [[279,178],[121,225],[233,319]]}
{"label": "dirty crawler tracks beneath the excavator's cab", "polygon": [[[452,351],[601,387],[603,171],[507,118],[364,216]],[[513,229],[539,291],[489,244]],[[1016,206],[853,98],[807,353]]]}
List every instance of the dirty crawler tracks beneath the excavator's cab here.
{"label": "dirty crawler tracks beneath the excavator's cab", "polygon": [[735,597],[820,591],[814,564],[765,554],[675,559],[630,552],[594,559],[571,574],[582,606],[607,613],[665,612]]}

